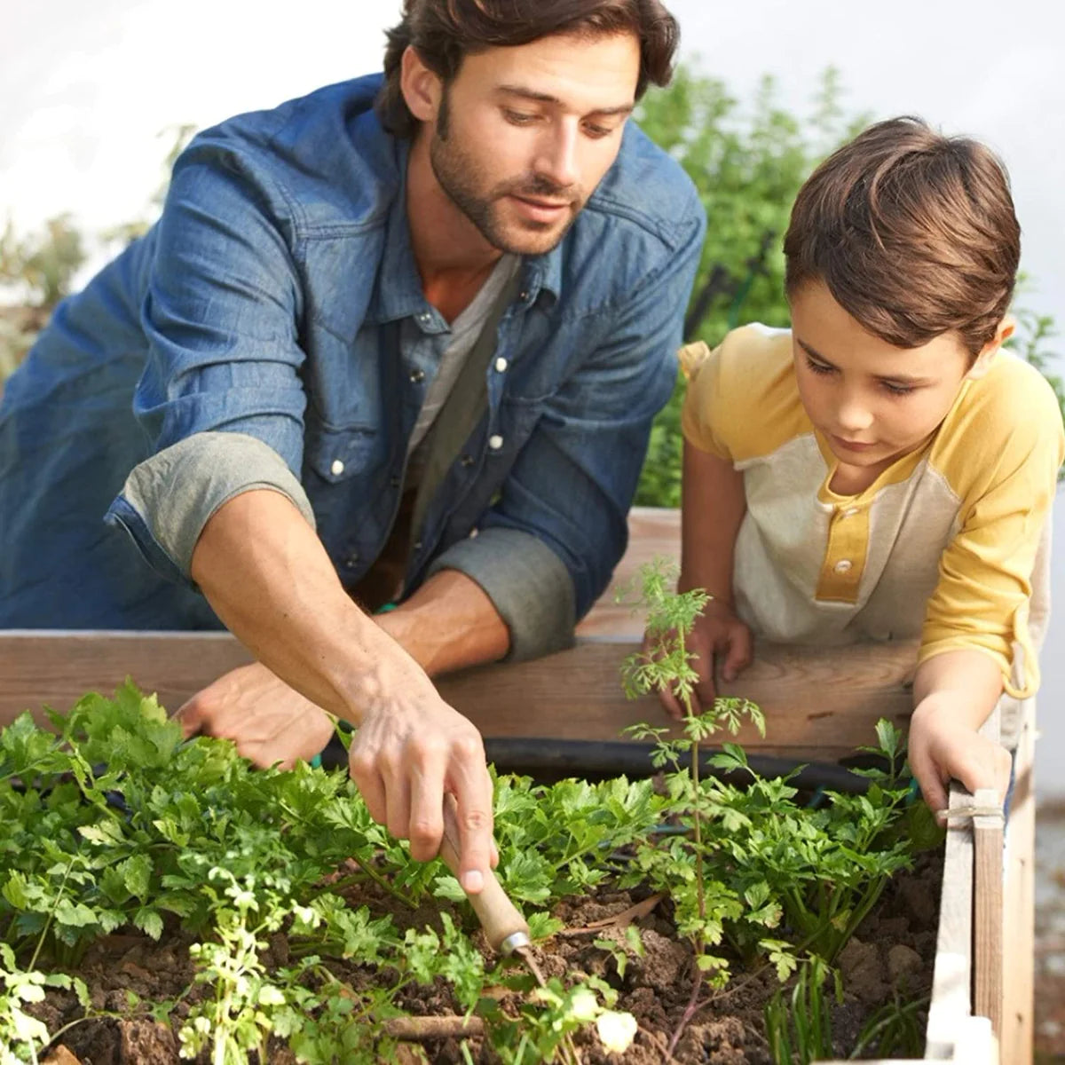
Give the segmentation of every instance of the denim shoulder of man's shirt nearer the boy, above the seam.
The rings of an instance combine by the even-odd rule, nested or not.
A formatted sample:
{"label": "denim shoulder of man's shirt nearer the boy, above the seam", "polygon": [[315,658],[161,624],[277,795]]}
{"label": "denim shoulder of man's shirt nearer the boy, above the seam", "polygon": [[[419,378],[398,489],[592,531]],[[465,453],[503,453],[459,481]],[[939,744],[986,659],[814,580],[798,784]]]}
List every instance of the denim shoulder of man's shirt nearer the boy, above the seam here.
{"label": "denim shoulder of man's shirt nearer the boy, above the seam", "polygon": [[632,227],[658,242],[663,251],[690,241],[706,220],[691,178],[632,121],[617,160],[588,198],[583,214],[589,224],[599,216]]}

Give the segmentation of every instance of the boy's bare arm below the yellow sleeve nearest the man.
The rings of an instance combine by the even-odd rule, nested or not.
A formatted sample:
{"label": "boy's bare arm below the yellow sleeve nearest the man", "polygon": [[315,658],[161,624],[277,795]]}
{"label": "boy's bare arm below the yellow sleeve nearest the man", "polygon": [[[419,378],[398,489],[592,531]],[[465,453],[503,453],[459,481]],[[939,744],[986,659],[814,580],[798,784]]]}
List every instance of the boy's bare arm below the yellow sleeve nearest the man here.
{"label": "boy's bare arm below the yellow sleeve nearest the man", "polygon": [[747,511],[743,475],[686,441],[683,494],[679,590],[705,588],[731,606],[736,537]]}

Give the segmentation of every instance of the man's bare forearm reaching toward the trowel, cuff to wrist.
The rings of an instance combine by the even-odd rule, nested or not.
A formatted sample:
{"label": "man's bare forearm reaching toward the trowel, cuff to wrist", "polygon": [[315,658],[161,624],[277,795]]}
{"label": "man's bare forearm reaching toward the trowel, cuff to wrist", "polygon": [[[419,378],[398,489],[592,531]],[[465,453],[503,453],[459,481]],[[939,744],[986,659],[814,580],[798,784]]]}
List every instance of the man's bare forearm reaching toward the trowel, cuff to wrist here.
{"label": "man's bare forearm reaching toward the trowel, cuff to wrist", "polygon": [[192,576],[264,666],[318,706],[358,723],[419,670],[345,593],[290,499],[252,490],[222,506],[193,552]]}

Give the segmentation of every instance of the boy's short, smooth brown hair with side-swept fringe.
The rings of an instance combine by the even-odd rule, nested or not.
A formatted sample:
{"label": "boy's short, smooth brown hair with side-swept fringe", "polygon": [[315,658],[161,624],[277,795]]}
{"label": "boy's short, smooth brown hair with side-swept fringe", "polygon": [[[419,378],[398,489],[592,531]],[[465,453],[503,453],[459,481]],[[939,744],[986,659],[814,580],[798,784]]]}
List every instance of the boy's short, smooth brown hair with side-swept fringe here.
{"label": "boy's short, smooth brown hair with side-swept fringe", "polygon": [[823,281],[869,332],[921,347],[954,331],[974,358],[1010,306],[1020,227],[1002,162],[919,118],[870,126],[802,186],[784,237],[791,297]]}

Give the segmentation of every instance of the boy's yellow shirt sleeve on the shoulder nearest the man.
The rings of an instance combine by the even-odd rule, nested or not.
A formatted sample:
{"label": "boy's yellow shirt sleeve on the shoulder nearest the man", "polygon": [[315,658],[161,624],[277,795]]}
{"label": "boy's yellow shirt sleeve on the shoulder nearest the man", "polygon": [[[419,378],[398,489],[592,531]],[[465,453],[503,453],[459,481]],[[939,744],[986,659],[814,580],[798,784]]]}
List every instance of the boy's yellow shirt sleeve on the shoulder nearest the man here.
{"label": "boy's yellow shirt sleeve on the shoulder nearest the man", "polygon": [[791,330],[760,324],[726,334],[712,350],[679,353],[689,379],[685,437],[733,462],[769,455],[812,431],[796,384]]}

